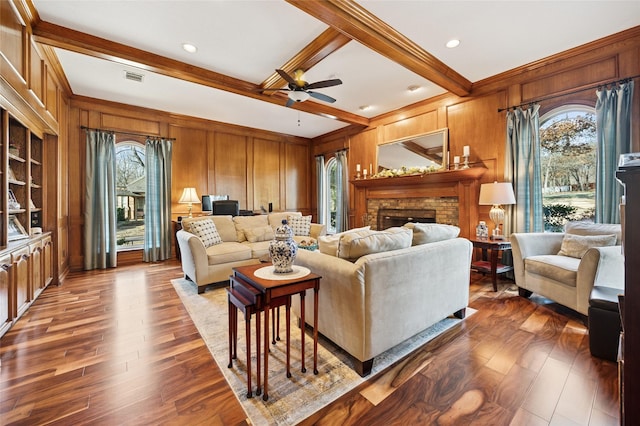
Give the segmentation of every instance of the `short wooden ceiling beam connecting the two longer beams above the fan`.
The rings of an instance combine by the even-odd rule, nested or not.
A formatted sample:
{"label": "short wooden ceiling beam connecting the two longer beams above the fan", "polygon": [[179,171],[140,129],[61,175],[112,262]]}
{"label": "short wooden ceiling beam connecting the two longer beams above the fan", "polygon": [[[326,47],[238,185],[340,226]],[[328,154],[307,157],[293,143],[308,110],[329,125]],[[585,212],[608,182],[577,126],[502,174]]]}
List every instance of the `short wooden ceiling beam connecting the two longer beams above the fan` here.
{"label": "short wooden ceiling beam connecting the two longer beams above the fan", "polygon": [[[335,28],[327,28],[322,34],[316,37],[311,43],[306,45],[304,49],[298,52],[293,58],[280,67],[289,75],[293,75],[295,70],[309,70],[318,62],[340,49],[351,39],[342,34]],[[264,89],[278,89],[287,85],[280,74],[273,72],[262,84]]]}

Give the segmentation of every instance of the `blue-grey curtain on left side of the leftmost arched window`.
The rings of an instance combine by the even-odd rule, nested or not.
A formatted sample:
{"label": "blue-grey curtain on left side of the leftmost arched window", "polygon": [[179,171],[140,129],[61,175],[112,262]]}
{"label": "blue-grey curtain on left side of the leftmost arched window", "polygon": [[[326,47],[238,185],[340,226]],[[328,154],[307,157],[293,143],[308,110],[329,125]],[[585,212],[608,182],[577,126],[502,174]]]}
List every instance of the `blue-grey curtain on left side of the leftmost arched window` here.
{"label": "blue-grey curtain on left side of the leftmost arched window", "polygon": [[87,130],[84,191],[84,269],[115,268],[116,138]]}

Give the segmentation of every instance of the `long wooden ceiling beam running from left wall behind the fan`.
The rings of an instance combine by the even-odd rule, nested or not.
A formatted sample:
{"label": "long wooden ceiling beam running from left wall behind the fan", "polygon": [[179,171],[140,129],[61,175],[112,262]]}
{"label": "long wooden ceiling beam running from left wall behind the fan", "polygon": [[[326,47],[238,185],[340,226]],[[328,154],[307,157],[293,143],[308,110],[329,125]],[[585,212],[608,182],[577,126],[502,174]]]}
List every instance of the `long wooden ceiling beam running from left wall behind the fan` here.
{"label": "long wooden ceiling beam running from left wall behind the fan", "polygon": [[[261,87],[256,84],[95,37],[70,28],[65,28],[50,22],[37,22],[33,26],[32,31],[34,40],[43,45],[144,69],[276,105],[284,105],[286,103],[286,95],[264,95],[260,92]],[[323,117],[335,118],[345,123],[365,126],[369,124],[369,119],[366,117],[317,102],[306,101],[296,104],[295,107],[301,111]]]}

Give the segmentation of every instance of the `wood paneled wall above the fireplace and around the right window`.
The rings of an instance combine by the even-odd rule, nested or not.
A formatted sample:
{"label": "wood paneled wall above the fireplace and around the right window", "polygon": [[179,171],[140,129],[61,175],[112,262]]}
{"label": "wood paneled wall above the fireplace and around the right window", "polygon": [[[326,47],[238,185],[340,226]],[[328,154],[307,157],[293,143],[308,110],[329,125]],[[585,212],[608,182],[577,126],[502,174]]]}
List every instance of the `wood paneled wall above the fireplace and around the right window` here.
{"label": "wood paneled wall above the fireplace and around the right window", "polygon": [[[373,163],[376,168],[378,145],[448,127],[451,156],[462,155],[462,147],[469,145],[472,165],[488,169],[482,183],[500,181],[505,171],[506,112],[498,109],[533,101],[539,101],[540,115],[566,104],[595,107],[597,85],[639,73],[640,27],[635,27],[476,82],[469,96],[438,96],[375,117],[366,129],[350,128],[316,138],[313,151],[330,156],[337,149],[348,148],[350,175],[354,176],[358,163]],[[639,83],[636,79],[634,111],[640,111]],[[634,113],[633,151],[640,151],[637,117]],[[353,186],[351,189],[352,211],[366,211],[361,194]],[[473,220],[489,221],[489,209],[479,206]],[[351,226],[358,225],[351,215]]]}

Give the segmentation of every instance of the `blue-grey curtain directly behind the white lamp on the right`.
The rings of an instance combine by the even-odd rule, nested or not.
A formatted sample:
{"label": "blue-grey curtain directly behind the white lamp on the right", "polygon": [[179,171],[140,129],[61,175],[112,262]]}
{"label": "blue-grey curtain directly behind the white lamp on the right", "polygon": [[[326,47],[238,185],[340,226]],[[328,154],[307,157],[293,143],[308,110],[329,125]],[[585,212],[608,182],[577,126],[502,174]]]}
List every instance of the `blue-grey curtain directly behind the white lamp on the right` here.
{"label": "blue-grey curtain directly behind the white lamp on the right", "polygon": [[507,113],[505,178],[513,183],[516,205],[505,219],[505,233],[543,232],[540,168],[540,105]]}

